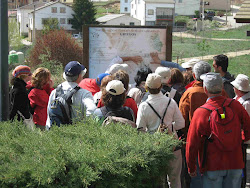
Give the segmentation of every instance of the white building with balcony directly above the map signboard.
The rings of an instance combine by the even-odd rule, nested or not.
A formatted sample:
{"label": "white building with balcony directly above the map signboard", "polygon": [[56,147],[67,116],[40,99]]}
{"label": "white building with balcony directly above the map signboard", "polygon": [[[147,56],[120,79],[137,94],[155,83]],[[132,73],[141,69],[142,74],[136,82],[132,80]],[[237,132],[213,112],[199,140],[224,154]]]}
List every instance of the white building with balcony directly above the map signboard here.
{"label": "white building with balcony directly above the map signboard", "polygon": [[132,0],[131,13],[141,25],[173,25],[174,0]]}

